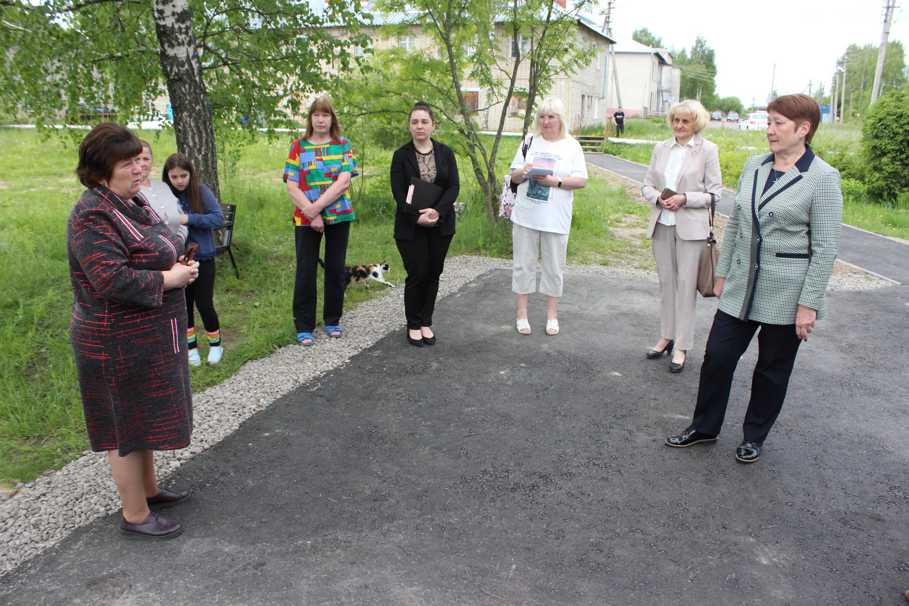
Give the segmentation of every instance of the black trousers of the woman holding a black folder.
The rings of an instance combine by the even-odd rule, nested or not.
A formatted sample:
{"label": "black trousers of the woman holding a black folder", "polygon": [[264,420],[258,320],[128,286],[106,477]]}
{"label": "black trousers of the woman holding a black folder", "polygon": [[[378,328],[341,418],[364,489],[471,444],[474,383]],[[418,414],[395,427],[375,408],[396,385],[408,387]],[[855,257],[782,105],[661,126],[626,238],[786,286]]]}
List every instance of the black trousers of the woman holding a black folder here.
{"label": "black trousers of the woman holding a black folder", "polygon": [[439,277],[445,269],[445,255],[454,235],[442,235],[439,227],[417,225],[414,239],[395,240],[407,272],[404,283],[404,312],[407,328],[419,330],[433,325]]}

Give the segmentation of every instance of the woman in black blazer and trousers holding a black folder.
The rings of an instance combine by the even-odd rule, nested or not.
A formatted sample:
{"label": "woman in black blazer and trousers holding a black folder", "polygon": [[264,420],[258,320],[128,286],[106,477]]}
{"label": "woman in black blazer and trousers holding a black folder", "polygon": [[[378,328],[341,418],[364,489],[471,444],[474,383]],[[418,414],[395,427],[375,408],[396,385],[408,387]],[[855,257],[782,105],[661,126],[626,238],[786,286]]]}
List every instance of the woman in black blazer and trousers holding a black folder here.
{"label": "woman in black blazer and trousers holding a black folder", "polygon": [[[429,104],[421,101],[414,105],[409,128],[414,139],[395,151],[391,182],[397,204],[395,243],[407,272],[404,287],[407,341],[423,347],[424,343],[435,345],[435,334],[430,327],[439,277],[445,269],[445,254],[454,237],[452,208],[461,191],[461,182],[452,149],[430,138],[435,117]],[[422,209],[419,214],[405,211],[412,177],[445,189],[435,208]]]}

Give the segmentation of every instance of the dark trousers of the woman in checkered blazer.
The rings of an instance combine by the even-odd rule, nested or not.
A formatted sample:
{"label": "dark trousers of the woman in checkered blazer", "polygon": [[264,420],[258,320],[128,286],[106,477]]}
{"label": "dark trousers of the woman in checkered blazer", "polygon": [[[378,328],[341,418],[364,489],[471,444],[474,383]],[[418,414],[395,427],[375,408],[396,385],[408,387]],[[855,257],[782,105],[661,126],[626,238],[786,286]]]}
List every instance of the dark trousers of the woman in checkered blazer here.
{"label": "dark trousers of the woman in checkered blazer", "polygon": [[751,380],[751,401],[744,415],[744,439],[764,442],[783,408],[795,354],[802,340],[795,324],[764,324],[739,320],[717,310],[707,338],[697,405],[691,426],[698,432],[719,435],[739,358],[757,334],[757,365]]}

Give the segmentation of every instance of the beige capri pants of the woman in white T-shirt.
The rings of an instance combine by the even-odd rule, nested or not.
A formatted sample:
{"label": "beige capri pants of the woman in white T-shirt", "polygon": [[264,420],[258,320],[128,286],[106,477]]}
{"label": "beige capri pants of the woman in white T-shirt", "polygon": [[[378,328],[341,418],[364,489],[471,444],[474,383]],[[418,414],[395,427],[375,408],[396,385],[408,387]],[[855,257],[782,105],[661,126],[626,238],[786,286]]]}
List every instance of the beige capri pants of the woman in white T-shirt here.
{"label": "beige capri pants of the woman in white T-shirt", "polygon": [[512,249],[512,290],[515,293],[536,292],[536,262],[540,259],[543,266],[540,292],[551,297],[562,296],[567,233],[541,232],[512,224]]}

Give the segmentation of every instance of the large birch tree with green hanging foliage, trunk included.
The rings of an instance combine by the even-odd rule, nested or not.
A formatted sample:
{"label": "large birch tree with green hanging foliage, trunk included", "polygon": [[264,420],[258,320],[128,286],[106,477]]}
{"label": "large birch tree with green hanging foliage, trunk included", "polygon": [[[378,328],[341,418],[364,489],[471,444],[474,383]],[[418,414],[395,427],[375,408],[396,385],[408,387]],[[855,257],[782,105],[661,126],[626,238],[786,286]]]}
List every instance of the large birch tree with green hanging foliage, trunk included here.
{"label": "large birch tree with green hanging foliage, trunk included", "polygon": [[45,125],[150,116],[166,88],[177,147],[219,194],[215,131],[287,124],[323,65],[350,65],[326,25],[360,3],[325,0],[0,0],[0,112]]}

